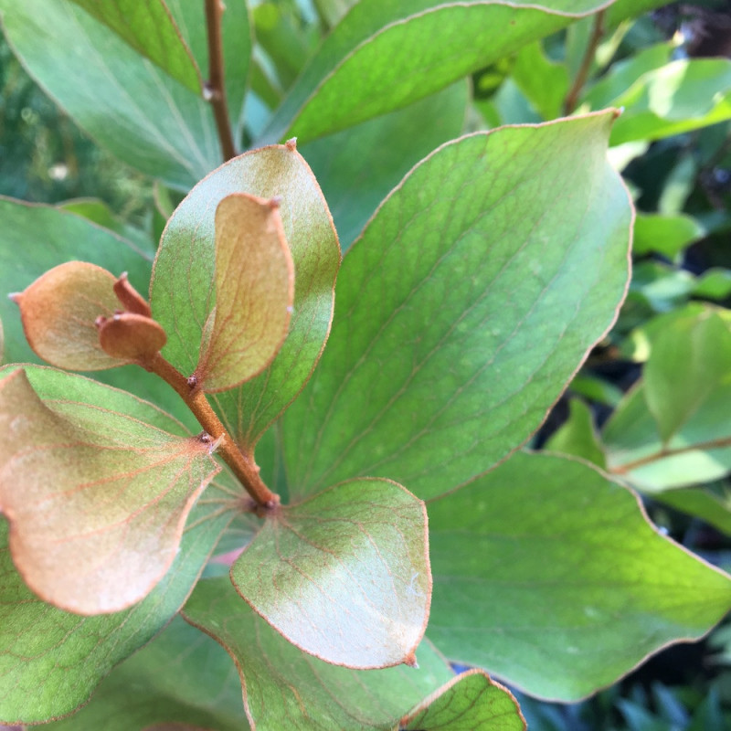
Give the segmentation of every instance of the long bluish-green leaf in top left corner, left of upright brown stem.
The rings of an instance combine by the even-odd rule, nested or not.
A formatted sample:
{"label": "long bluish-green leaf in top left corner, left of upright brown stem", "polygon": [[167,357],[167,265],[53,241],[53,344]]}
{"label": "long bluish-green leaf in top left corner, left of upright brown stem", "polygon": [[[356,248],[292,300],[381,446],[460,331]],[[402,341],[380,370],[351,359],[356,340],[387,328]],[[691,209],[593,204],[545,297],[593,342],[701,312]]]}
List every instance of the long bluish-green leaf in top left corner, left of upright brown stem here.
{"label": "long bluish-green leaf in top left corner, left of upright brown stem", "polygon": [[0,0],[0,14],[30,75],[123,162],[183,189],[220,162],[207,102],[70,0]]}

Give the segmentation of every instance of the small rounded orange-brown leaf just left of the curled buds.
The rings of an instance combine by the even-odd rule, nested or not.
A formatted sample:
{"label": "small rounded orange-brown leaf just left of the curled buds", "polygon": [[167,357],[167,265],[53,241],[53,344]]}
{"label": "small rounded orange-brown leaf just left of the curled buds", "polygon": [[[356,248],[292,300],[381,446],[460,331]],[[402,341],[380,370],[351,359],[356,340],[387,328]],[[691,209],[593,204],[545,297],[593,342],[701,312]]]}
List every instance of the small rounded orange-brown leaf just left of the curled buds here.
{"label": "small rounded orange-brown leaf just left of the curled buds", "polygon": [[93,371],[121,365],[101,349],[98,317],[119,309],[115,278],[86,261],[69,261],[47,271],[26,291],[12,295],[28,344],[51,365]]}

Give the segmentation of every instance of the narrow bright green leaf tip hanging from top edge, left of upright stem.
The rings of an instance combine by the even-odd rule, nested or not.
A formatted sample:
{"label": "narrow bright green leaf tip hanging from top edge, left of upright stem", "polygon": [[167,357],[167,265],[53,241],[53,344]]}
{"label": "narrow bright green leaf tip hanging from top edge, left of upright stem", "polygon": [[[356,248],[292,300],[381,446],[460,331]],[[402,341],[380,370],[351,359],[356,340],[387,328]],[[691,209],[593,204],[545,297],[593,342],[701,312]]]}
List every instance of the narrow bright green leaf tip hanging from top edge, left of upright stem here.
{"label": "narrow bright green leaf tip hanging from top edge, left of upright stem", "polygon": [[203,80],[164,0],[71,0],[108,26],[189,90],[200,93]]}

